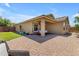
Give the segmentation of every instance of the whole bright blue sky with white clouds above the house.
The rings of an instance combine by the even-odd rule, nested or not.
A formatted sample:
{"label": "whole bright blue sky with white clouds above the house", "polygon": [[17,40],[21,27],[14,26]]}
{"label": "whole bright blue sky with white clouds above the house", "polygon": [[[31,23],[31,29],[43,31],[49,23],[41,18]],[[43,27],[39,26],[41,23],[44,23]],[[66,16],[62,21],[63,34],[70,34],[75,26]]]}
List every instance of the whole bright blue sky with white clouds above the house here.
{"label": "whole bright blue sky with white clouds above the house", "polygon": [[19,23],[27,19],[53,14],[55,18],[68,16],[74,26],[74,17],[79,16],[78,3],[0,3],[0,16]]}

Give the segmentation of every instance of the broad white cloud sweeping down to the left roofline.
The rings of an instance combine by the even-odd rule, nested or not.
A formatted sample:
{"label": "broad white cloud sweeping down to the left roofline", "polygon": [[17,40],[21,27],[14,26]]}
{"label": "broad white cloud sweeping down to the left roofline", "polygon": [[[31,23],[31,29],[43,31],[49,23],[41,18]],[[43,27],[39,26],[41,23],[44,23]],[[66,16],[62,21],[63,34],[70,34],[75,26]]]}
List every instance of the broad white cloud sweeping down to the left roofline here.
{"label": "broad white cloud sweeping down to the left roofline", "polygon": [[27,19],[33,18],[32,15],[14,13],[11,11],[7,11],[6,9],[0,8],[0,16],[10,19],[14,23],[19,23],[25,21]]}

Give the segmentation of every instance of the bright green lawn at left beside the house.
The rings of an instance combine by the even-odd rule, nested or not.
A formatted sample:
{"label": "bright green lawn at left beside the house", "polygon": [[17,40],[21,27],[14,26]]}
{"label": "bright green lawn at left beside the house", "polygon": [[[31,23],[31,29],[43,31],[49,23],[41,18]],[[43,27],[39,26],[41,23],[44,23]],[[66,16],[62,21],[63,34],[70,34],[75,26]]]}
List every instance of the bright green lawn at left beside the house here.
{"label": "bright green lawn at left beside the house", "polygon": [[0,41],[9,41],[18,37],[21,37],[21,35],[14,32],[0,32]]}

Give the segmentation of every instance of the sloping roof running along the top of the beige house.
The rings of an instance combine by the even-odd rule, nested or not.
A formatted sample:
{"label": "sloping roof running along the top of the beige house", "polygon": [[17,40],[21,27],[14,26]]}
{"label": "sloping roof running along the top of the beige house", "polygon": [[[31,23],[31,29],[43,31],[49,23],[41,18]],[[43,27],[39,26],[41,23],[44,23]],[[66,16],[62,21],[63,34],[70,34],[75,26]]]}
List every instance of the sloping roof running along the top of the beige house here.
{"label": "sloping roof running along the top of the beige house", "polygon": [[[53,16],[53,14],[48,14],[48,15],[41,15],[41,16],[37,16],[37,17],[34,17],[34,18],[31,18],[31,19],[28,19],[24,22],[21,22],[21,23],[25,23],[25,22],[28,22],[28,21],[32,21],[32,20],[35,20],[35,19],[38,19],[38,18],[47,18],[47,19],[51,19],[52,21],[65,21],[68,19],[68,16],[63,16],[63,17],[59,17],[59,18],[55,18]],[[21,24],[21,23],[18,23],[18,24]]]}

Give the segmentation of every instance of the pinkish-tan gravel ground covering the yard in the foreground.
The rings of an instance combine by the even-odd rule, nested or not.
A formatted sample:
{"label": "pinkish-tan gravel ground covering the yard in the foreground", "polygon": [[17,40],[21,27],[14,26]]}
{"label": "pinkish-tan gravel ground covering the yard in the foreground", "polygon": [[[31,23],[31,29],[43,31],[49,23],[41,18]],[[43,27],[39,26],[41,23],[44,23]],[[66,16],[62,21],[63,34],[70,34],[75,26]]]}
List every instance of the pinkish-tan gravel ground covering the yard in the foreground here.
{"label": "pinkish-tan gravel ground covering the yard in the foreground", "polygon": [[[32,35],[31,35],[32,36]],[[51,36],[51,38],[50,38]],[[50,35],[42,43],[29,38],[20,37],[8,41],[10,50],[26,50],[31,56],[77,56],[79,55],[79,38],[71,36]],[[37,36],[33,36],[37,38]],[[47,38],[48,38],[47,37]],[[40,37],[37,38],[40,41]]]}

